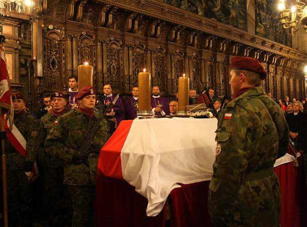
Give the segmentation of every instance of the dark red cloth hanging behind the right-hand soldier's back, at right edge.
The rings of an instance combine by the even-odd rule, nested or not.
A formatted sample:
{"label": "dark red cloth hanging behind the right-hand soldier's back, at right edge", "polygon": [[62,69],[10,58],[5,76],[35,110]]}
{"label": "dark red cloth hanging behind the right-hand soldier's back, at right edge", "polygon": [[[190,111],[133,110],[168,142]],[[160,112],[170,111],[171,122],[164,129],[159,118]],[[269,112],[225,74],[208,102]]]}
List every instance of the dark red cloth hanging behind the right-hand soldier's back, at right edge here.
{"label": "dark red cloth hanging behind the right-hand soldier's back, at right edge", "polygon": [[[289,148],[288,153],[294,152]],[[304,156],[300,151],[299,166],[293,162],[274,168],[281,186],[282,227],[305,227],[307,224],[307,188],[304,170]]]}

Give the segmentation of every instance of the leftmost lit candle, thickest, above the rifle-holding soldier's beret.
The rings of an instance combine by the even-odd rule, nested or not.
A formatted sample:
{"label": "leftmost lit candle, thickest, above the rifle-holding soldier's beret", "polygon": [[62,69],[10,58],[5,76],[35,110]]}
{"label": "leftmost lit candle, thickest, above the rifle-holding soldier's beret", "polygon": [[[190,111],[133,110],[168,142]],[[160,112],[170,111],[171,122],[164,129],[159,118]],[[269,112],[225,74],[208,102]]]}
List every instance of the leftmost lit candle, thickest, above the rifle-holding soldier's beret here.
{"label": "leftmost lit candle, thickest, above the rifle-holding soldier's beret", "polygon": [[78,66],[78,89],[86,86],[94,86],[93,66],[84,62]]}

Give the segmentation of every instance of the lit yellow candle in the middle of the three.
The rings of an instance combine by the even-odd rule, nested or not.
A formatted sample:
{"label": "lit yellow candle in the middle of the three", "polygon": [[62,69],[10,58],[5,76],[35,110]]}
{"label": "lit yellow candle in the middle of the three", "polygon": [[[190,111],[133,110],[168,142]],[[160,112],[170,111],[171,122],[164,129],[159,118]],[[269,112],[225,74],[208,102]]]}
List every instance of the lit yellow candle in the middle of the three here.
{"label": "lit yellow candle in the middle of the three", "polygon": [[139,73],[139,111],[151,110],[150,104],[150,73],[145,72]]}

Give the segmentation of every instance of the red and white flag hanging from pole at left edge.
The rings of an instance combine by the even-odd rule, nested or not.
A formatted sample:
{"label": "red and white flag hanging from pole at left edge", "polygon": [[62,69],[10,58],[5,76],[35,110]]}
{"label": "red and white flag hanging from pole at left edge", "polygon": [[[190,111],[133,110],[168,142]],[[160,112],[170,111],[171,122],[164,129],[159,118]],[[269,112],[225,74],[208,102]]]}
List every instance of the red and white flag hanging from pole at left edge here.
{"label": "red and white flag hanging from pole at left edge", "polygon": [[[3,44],[0,44],[1,62],[0,62],[0,107],[6,109],[10,125],[13,125],[14,109],[11,99],[11,89],[9,85],[9,77],[7,73],[4,48]],[[4,112],[5,113],[5,112]],[[12,129],[12,128],[11,128]]]}

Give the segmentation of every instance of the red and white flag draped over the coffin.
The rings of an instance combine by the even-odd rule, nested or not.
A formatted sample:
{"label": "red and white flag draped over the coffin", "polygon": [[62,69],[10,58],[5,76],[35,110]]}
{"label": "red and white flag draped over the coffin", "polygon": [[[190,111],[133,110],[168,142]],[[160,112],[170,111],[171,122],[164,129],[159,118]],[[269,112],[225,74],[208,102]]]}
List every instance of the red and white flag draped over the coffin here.
{"label": "red and white flag draped over the coffin", "polygon": [[211,179],[217,119],[122,121],[101,149],[98,173],[122,179],[147,198],[147,216],[162,210],[181,184]]}

